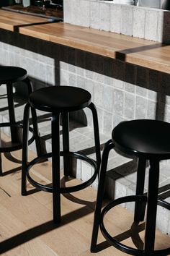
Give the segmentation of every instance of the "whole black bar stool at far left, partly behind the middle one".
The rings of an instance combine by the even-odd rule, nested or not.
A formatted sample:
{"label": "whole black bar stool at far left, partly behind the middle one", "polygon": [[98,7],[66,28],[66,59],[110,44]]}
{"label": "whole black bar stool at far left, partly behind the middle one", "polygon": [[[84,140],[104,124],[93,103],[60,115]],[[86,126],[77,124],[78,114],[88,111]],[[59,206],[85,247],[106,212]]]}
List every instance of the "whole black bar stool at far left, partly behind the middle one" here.
{"label": "whole black bar stool at far left, partly behind the middle one", "polygon": [[[14,97],[12,85],[14,82],[23,81],[27,85],[28,93],[32,93],[32,83],[27,77],[27,71],[20,67],[7,67],[0,66],[0,85],[6,84],[7,100],[9,108],[9,122],[1,123],[0,127],[10,127],[11,142],[6,145],[0,145],[1,153],[12,152],[22,148],[22,128],[23,125],[16,122],[14,112]],[[34,140],[36,142],[37,154],[41,154],[40,137],[37,129],[37,115],[35,109],[32,108],[32,124],[33,129],[29,127],[32,132],[32,137],[29,140],[29,144]],[[1,168],[1,156],[0,156],[0,175],[2,174]]]}

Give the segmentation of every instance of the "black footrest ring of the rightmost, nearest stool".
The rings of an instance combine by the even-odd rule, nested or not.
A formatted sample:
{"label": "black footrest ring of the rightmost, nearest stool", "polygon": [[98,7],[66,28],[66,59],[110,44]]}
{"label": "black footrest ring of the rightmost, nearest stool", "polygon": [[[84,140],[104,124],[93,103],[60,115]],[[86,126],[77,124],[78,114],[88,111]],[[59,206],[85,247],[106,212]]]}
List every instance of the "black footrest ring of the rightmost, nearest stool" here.
{"label": "black footrest ring of the rightmost, nearest stool", "polygon": [[[142,195],[131,195],[131,196],[126,196],[126,197],[120,197],[116,200],[113,200],[112,202],[109,202],[108,205],[106,205],[101,213],[101,220],[100,220],[100,229],[102,231],[103,236],[105,237],[105,239],[107,239],[107,241],[109,242],[109,244],[112,244],[112,246],[116,247],[117,249],[120,249],[122,252],[126,252],[130,255],[145,255],[145,251],[142,249],[135,249],[133,247],[128,247],[125,244],[122,244],[120,242],[118,242],[116,239],[114,239],[108,232],[107,229],[104,226],[104,216],[106,215],[106,213],[111,210],[112,208],[114,208],[117,205],[122,204],[123,202],[141,202],[147,201],[147,197],[146,196],[142,196]],[[158,205],[161,205],[162,207],[170,210],[170,204],[168,202],[164,202],[164,200],[158,200]],[[170,247],[166,248],[166,249],[158,249],[155,250],[153,252],[152,255],[169,255],[170,254]]]}

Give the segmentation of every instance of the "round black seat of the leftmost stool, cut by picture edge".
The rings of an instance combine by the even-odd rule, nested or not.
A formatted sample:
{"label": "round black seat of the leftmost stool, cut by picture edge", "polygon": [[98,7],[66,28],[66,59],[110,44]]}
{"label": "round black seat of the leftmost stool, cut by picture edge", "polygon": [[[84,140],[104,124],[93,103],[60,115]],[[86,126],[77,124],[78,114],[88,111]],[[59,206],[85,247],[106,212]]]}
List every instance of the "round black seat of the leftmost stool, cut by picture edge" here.
{"label": "round black seat of the leftmost stool, cut by picture edge", "polygon": [[19,82],[27,78],[27,70],[21,67],[0,66],[0,84]]}

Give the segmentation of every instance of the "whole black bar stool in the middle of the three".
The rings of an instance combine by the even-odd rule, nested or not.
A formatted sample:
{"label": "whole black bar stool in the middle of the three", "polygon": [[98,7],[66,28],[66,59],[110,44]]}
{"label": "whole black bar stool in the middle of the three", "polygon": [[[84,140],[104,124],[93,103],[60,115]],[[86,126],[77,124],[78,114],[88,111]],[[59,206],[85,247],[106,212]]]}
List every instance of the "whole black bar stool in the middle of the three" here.
{"label": "whole black bar stool in the middle of the three", "polygon": [[[29,164],[27,163],[27,132],[29,127],[29,109],[30,106],[41,111],[52,113],[51,132],[52,132],[52,152],[35,158]],[[69,151],[69,123],[68,113],[83,108],[90,108],[94,121],[94,140],[97,161],[88,158],[86,155]],[[60,151],[60,116],[63,125],[63,152]],[[71,158],[78,158],[86,161],[94,168],[94,174],[86,182],[73,186],[60,186],[60,156],[63,155],[64,175],[71,174]],[[39,163],[47,158],[52,158],[52,179],[53,187],[44,186],[35,182],[29,174],[30,168],[35,163]],[[72,159],[73,160],[73,159]],[[38,189],[53,193],[53,221],[61,221],[61,193],[76,192],[88,187],[97,177],[99,172],[100,142],[97,110],[94,103],[91,103],[91,94],[81,88],[71,86],[52,86],[36,90],[30,94],[30,102],[24,109],[24,132],[23,132],[23,150],[22,150],[22,195],[27,195],[26,177],[29,182]]]}

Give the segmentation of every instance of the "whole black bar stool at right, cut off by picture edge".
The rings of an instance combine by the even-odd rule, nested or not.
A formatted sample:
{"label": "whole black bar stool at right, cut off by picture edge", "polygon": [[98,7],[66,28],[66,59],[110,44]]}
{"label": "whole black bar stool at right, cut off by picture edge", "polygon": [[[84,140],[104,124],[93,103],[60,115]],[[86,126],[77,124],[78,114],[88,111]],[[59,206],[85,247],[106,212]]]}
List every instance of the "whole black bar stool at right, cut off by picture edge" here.
{"label": "whole black bar stool at right, cut off by picture edge", "polygon": [[[97,192],[97,205],[94,213],[94,227],[91,239],[91,252],[97,249],[97,236],[99,226],[105,239],[117,249],[130,255],[169,255],[170,247],[154,250],[156,231],[157,205],[170,210],[170,204],[158,200],[159,161],[170,158],[170,124],[156,120],[123,121],[112,131],[112,140],[109,140],[102,153],[102,164],[99,173],[99,187]],[[135,155],[138,157],[138,171],[136,194],[120,197],[113,200],[102,210],[104,194],[104,180],[107,170],[109,151],[114,148],[118,153]],[[148,177],[148,193],[144,195],[144,181],[146,161],[150,163]],[[135,249],[118,242],[104,226],[105,214],[123,202],[135,202],[134,222],[144,220],[146,212],[146,231],[144,249]],[[146,210],[147,205],[147,210]],[[102,210],[102,212],[101,212]],[[120,223],[121,226],[121,223]]]}

